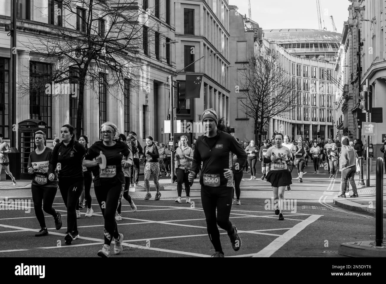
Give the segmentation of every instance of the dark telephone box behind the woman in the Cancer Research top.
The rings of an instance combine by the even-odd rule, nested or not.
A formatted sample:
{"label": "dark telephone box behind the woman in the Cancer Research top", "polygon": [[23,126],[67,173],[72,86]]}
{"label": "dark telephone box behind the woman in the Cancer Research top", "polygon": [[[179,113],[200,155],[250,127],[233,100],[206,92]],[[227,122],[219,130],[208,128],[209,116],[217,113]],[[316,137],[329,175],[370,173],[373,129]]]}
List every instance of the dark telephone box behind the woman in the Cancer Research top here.
{"label": "dark telephone box behind the woman in the Cancer Research top", "polygon": [[19,122],[20,179],[31,178],[30,174],[28,174],[28,158],[29,154],[36,149],[34,133],[38,130],[47,133],[46,122],[38,119],[26,119]]}

